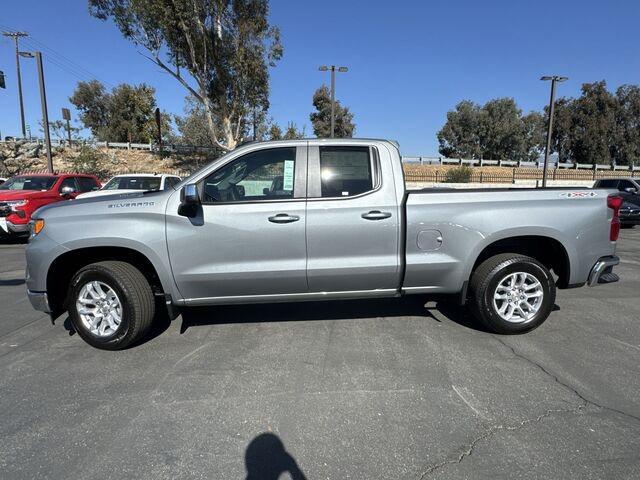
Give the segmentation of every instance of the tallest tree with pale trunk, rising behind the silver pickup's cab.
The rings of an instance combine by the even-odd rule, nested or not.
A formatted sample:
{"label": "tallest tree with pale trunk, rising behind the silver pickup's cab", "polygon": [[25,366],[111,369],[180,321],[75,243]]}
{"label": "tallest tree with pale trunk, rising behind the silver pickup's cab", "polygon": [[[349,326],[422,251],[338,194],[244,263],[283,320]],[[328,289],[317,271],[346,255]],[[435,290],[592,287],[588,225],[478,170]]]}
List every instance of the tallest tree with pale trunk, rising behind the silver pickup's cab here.
{"label": "tallest tree with pale trunk, rising behind the silver pickup's cab", "polygon": [[268,109],[268,67],[282,57],[268,0],[89,0],[89,10],[202,104],[215,145],[235,148],[251,110]]}

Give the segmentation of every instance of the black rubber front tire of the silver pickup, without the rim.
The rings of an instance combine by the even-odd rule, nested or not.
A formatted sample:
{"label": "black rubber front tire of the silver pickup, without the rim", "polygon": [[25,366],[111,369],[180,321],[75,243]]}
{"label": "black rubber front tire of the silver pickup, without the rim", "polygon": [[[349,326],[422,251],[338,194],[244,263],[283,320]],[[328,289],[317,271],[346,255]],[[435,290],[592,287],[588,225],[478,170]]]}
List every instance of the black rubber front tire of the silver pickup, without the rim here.
{"label": "black rubber front tire of the silver pickup, without the rim", "polygon": [[[105,337],[91,333],[76,307],[82,288],[94,280],[111,288],[122,304],[120,325]],[[105,261],[87,265],[76,273],[69,290],[68,310],[76,332],[85,342],[103,350],[120,350],[147,333],[155,314],[155,302],[151,286],[140,270],[130,263]]]}

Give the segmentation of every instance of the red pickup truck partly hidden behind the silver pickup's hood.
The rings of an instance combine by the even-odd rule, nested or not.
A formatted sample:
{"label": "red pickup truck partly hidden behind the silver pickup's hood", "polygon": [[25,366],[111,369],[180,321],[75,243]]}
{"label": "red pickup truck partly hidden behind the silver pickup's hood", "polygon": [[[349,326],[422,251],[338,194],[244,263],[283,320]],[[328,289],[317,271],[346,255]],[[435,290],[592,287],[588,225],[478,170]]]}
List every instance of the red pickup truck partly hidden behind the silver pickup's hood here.
{"label": "red pickup truck partly hidden behind the silver pickup's hood", "polygon": [[43,205],[100,188],[93,175],[17,175],[0,185],[0,238],[29,234],[31,214]]}

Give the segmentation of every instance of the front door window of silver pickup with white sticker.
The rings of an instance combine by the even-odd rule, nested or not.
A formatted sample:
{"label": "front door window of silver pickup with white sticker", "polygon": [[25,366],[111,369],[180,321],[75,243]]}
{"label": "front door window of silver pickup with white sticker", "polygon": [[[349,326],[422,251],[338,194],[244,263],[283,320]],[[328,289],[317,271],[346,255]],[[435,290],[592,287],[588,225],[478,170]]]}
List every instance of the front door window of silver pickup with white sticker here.
{"label": "front door window of silver pickup with white sticker", "polygon": [[293,198],[296,147],[248,153],[204,180],[203,200],[251,202]]}

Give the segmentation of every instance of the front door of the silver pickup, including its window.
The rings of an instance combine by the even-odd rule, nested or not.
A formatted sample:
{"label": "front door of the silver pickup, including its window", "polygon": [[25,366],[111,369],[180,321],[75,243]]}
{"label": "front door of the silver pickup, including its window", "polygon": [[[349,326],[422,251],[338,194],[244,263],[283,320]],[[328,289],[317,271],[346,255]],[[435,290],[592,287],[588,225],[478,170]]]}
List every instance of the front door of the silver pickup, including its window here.
{"label": "front door of the silver pickup, including its window", "polygon": [[195,219],[172,196],[167,243],[184,298],[307,292],[306,164],[306,142],[241,155],[199,182]]}

